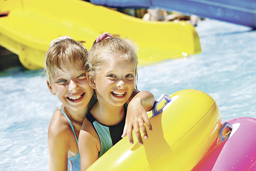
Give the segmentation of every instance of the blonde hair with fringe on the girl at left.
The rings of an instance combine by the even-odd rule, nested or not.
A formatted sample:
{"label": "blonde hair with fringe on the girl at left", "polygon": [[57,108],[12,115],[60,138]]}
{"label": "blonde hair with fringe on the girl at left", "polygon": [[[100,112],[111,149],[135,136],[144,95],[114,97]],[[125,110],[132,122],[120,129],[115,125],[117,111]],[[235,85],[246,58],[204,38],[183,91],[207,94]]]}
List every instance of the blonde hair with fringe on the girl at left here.
{"label": "blonde hair with fringe on the girl at left", "polygon": [[75,68],[76,63],[85,66],[87,56],[87,49],[72,38],[53,40],[45,56],[45,72],[50,83],[56,69],[71,70]]}

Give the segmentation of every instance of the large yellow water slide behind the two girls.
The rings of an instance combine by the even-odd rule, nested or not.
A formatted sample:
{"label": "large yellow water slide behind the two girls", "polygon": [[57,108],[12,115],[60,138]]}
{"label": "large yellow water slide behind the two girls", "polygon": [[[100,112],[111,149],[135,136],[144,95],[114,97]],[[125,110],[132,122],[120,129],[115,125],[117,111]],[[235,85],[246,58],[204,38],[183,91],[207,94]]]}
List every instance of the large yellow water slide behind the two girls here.
{"label": "large yellow water slide behind the two girls", "polygon": [[199,36],[186,22],[145,22],[80,0],[0,0],[0,46],[24,67],[44,67],[50,42],[68,35],[90,50],[102,32],[138,43],[140,65],[201,52]]}

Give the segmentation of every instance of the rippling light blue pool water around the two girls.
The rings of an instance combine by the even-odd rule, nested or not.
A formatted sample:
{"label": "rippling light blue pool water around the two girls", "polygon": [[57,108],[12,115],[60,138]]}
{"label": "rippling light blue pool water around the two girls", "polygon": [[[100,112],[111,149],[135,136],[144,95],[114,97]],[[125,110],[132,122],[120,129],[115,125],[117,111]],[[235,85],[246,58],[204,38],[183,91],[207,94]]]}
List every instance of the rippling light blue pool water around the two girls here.
{"label": "rippling light blue pool water around the two girls", "polygon": [[[139,90],[173,94],[197,89],[214,98],[222,120],[256,117],[256,31],[204,20],[196,30],[202,53],[139,68]],[[47,130],[57,98],[39,71],[0,71],[0,166],[48,170]]]}

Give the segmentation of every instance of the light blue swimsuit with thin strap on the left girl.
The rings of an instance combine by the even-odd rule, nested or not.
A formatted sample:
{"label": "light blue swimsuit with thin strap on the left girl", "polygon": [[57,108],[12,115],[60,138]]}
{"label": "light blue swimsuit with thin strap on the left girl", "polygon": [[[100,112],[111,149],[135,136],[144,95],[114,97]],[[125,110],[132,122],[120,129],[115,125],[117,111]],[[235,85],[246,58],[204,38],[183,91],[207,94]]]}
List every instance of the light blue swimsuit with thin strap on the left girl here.
{"label": "light blue swimsuit with thin strap on the left girl", "polygon": [[[75,138],[76,138],[76,143],[77,143],[77,146],[78,146],[78,139],[76,137],[75,130],[74,130],[72,122],[70,121],[70,119],[66,115],[66,113],[62,110],[61,106],[60,106],[60,111],[67,118],[67,120],[69,121],[69,124],[71,126],[71,129],[73,130],[73,133],[74,133]],[[74,157],[68,158],[68,171],[69,170],[80,171],[80,167],[81,167],[81,159],[80,159],[80,153],[78,152],[78,154],[75,155]]]}

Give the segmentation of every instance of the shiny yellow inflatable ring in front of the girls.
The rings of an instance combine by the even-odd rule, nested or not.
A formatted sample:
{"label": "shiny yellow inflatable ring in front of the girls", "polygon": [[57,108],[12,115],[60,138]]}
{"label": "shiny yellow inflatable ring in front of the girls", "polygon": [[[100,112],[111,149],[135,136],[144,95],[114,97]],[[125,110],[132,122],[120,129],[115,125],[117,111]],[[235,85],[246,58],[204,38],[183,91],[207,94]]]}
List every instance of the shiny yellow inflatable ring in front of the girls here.
{"label": "shiny yellow inflatable ring in front of the girls", "polygon": [[[214,99],[198,90],[182,90],[163,100],[151,117],[153,132],[143,145],[127,136],[88,170],[191,170],[218,138],[221,116]],[[159,100],[158,100],[159,101]],[[133,135],[134,137],[135,134]]]}

